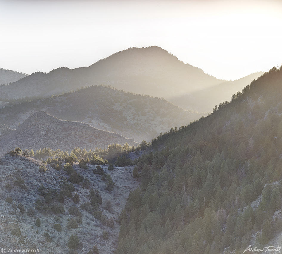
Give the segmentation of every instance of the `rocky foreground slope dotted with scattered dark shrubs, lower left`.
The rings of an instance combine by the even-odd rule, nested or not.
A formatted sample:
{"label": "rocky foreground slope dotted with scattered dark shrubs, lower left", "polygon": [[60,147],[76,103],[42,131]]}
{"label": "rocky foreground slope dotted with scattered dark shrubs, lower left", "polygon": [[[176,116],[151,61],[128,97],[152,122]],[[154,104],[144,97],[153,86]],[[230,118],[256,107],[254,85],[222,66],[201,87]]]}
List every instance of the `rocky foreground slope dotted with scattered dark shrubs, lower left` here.
{"label": "rocky foreground slope dotted with scattered dark shrubs, lower left", "polygon": [[[40,167],[47,171],[39,172]],[[113,253],[120,228],[118,216],[125,198],[139,182],[130,174],[130,166],[115,167],[113,171],[102,166],[115,183],[109,191],[108,181],[93,173],[96,165],[88,167],[81,169],[78,163],[74,164],[75,172],[80,178],[83,176],[82,182],[74,183],[72,175],[63,169],[55,170],[21,155],[2,157],[1,248],[7,252],[9,248],[39,248],[39,253],[71,253],[69,247],[75,249],[75,243],[79,243],[79,254],[89,253],[95,246],[100,254]],[[72,235],[78,237],[78,242]],[[68,247],[70,238],[72,246]]]}

